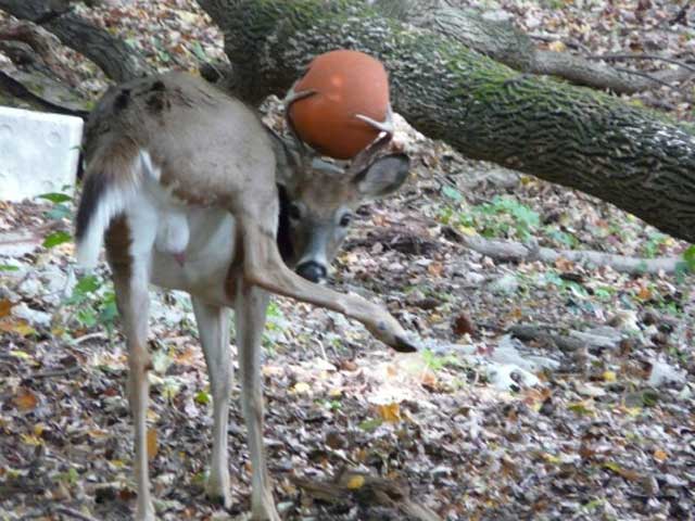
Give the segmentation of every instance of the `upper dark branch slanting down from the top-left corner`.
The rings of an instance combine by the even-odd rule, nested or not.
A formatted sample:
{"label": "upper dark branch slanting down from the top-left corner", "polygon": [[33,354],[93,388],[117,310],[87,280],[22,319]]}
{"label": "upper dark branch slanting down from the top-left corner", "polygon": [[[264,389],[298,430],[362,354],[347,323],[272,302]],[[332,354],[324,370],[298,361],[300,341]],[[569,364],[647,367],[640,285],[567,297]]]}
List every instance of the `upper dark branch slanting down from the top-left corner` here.
{"label": "upper dark branch slanting down from the top-left corner", "polygon": [[72,13],[64,0],[0,0],[0,10],[41,25],[63,45],[94,62],[115,81],[126,81],[153,71],[125,42]]}

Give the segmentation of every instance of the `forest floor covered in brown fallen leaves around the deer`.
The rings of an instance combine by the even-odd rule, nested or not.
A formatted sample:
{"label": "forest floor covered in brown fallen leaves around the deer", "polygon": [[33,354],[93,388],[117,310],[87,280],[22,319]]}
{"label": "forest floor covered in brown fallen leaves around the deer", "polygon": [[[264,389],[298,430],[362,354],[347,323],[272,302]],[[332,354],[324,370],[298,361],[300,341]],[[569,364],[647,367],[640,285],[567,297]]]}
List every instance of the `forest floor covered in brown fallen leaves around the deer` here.
{"label": "forest floor covered in brown fallen leaves around the deer", "polygon": [[[545,45],[693,58],[695,12],[672,24],[681,5],[668,0],[459,3],[511,13]],[[79,9],[162,68],[223,56],[190,0]],[[71,52],[64,60],[96,98],[103,77]],[[662,87],[631,102],[690,119],[692,96],[692,85]],[[285,519],[406,519],[399,500],[376,505],[369,480],[331,499],[298,482],[354,471],[447,520],[694,519],[693,275],[511,263],[467,238],[646,260],[688,245],[585,194],[464,160],[405,124],[395,144],[412,156],[410,179],[359,212],[331,285],[386,303],[427,350],[396,354],[342,316],[274,300],[265,441]],[[73,212],[64,194],[0,203],[0,520],[128,519],[135,503],[113,287],[104,266],[75,270]],[[224,511],[203,493],[211,397],[191,306],[179,292],[152,295],[148,445],[160,519],[236,519],[250,493],[239,387],[235,506]]]}

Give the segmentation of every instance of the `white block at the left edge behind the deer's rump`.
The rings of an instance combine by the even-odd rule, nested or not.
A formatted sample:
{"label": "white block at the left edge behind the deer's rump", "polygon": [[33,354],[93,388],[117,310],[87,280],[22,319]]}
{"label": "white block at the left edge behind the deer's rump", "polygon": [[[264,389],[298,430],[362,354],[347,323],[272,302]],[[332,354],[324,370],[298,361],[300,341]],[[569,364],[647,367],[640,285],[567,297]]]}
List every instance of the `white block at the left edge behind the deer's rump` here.
{"label": "white block at the left edge behind the deer's rump", "polygon": [[0,106],[0,200],[75,185],[81,135],[79,117]]}

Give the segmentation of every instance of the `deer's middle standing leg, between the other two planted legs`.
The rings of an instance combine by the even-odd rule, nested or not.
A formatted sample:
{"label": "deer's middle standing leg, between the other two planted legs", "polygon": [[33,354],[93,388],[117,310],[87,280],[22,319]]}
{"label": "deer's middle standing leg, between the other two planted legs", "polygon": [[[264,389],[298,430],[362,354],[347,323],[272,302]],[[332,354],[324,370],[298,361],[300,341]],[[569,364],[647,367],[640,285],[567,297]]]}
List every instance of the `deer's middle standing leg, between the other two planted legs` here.
{"label": "deer's middle standing leg, between the other two planted legs", "polygon": [[198,335],[207,364],[213,394],[213,454],[205,492],[225,508],[231,506],[227,465],[227,425],[233,368],[229,353],[229,309],[191,297]]}

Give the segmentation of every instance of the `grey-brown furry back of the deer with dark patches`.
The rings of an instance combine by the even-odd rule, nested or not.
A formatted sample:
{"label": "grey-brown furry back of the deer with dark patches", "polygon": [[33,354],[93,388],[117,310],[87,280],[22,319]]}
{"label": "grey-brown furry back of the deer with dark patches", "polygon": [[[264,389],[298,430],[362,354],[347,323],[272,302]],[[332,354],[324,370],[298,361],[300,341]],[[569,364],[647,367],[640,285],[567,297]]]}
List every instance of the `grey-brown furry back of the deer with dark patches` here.
{"label": "grey-brown furry back of the deer with dark patches", "polygon": [[188,74],[110,89],[86,127],[87,163],[124,137],[149,153],[162,186],[192,205],[233,209],[254,183],[275,185],[275,156],[256,114]]}

